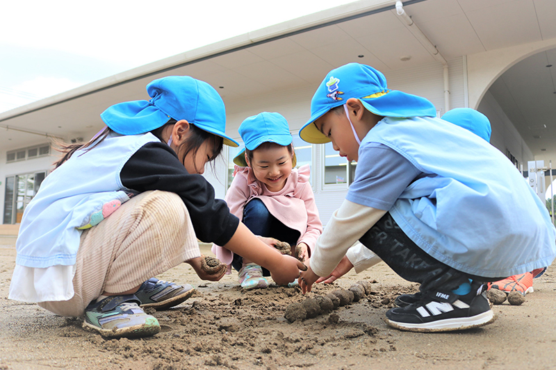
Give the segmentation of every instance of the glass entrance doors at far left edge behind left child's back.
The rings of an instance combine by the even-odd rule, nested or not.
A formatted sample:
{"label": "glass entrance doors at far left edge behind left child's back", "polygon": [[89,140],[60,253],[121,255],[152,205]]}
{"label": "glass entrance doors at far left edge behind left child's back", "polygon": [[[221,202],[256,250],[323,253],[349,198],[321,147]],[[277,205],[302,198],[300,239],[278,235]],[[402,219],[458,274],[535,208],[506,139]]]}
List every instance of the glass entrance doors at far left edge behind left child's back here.
{"label": "glass entrance doors at far left edge behind left child's back", "polygon": [[4,224],[19,224],[22,221],[25,208],[37,194],[46,175],[46,172],[36,172],[6,178]]}

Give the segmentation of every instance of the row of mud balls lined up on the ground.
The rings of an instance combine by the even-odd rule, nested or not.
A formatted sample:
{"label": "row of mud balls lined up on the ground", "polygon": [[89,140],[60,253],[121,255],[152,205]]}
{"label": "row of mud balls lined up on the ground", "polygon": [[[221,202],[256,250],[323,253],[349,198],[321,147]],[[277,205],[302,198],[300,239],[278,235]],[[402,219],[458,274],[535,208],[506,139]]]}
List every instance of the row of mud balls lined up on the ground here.
{"label": "row of mud balls lined up on the ground", "polygon": [[284,317],[293,323],[295,320],[304,320],[317,317],[319,314],[327,314],[336,308],[357,302],[367,294],[370,294],[370,283],[359,280],[350,289],[336,289],[325,296],[306,298],[301,303],[292,303],[286,308]]}

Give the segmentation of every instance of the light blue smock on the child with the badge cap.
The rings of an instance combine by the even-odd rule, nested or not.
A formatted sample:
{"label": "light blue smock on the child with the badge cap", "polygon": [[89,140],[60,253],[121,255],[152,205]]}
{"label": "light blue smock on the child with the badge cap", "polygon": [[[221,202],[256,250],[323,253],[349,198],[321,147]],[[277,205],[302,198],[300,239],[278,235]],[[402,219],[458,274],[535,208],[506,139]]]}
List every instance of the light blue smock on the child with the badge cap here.
{"label": "light blue smock on the child with the badge cap", "polygon": [[556,257],[556,230],[541,199],[505,155],[437,118],[386,117],[362,144],[379,142],[425,174],[390,213],[421,249],[484,277],[523,274]]}

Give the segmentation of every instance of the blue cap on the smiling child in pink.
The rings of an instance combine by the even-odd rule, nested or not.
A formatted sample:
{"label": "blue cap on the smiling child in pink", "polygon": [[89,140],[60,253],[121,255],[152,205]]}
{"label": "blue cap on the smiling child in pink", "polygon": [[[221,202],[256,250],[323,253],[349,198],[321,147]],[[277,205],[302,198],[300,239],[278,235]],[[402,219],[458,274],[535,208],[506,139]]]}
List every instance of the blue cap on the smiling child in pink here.
{"label": "blue cap on the smiling child in pink", "polygon": [[[253,151],[264,142],[275,142],[281,146],[291,144],[290,127],[283,115],[275,112],[262,112],[256,116],[247,117],[239,126],[239,135],[245,148]],[[293,158],[295,167],[295,153]],[[245,149],[234,158],[234,163],[240,167],[247,167]]]}

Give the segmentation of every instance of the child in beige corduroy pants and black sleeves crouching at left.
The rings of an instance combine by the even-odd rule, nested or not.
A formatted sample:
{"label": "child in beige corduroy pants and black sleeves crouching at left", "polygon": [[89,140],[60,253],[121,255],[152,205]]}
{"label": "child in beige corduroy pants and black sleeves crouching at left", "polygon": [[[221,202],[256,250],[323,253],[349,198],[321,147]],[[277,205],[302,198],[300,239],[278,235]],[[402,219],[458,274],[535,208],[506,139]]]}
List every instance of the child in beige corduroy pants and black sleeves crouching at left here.
{"label": "child in beige corduroy pants and black sleeves crouching at left", "polygon": [[25,210],[10,299],[35,302],[106,337],[160,330],[141,307],[169,308],[190,285],[152,276],[188,262],[205,280],[225,266],[203,264],[197,238],[217,242],[272,271],[279,283],[303,264],[267,246],[231,215],[201,176],[222,144],[224,102],[203,81],[167,76],[147,85],[149,101],[106,109],[106,127],[63,158]]}

